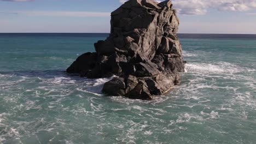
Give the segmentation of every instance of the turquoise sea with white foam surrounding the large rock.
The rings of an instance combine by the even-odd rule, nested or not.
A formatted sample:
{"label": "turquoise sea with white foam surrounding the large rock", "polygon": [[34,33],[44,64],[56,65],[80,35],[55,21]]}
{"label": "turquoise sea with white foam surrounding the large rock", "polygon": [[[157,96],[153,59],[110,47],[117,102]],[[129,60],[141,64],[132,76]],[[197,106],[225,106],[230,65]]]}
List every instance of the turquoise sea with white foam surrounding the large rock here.
{"label": "turquoise sea with white foam surrounding the large rock", "polygon": [[186,72],[154,100],[66,68],[108,34],[0,34],[0,143],[255,143],[256,35],[179,34]]}

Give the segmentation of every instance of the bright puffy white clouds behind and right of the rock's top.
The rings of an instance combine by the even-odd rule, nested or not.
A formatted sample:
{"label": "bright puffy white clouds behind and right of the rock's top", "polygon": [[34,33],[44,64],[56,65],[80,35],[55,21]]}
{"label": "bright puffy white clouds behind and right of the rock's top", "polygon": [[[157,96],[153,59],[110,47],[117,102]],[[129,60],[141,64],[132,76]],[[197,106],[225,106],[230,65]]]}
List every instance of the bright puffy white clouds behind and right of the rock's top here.
{"label": "bright puffy white clouds behind and right of the rock's top", "polygon": [[[161,2],[156,0],[157,2]],[[119,0],[124,3],[125,0]],[[217,9],[220,11],[247,11],[256,9],[255,0],[173,0],[173,7],[179,14],[185,15],[203,15],[208,9]]]}

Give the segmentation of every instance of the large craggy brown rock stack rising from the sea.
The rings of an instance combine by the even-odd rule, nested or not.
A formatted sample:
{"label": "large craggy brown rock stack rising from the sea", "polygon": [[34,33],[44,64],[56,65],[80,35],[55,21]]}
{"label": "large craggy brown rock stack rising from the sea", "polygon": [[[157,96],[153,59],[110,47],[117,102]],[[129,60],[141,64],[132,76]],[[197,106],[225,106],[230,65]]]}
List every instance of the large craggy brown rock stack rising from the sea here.
{"label": "large craggy brown rock stack rising from the sea", "polygon": [[180,82],[184,72],[176,33],[179,20],[171,1],[130,0],[111,13],[111,32],[67,69],[88,78],[117,75],[103,92],[133,99],[151,99]]}

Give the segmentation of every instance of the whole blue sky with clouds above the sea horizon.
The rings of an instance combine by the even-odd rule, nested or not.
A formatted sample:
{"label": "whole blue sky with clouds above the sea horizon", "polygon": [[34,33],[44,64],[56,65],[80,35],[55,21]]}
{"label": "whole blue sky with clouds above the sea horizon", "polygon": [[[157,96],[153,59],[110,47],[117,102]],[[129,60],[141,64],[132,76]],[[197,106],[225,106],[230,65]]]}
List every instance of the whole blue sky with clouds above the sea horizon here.
{"label": "whole blue sky with clouds above the sea horizon", "polygon": [[[109,33],[125,0],[0,0],[0,33]],[[158,1],[160,2],[160,1]],[[256,34],[256,0],[173,0],[179,33]]]}

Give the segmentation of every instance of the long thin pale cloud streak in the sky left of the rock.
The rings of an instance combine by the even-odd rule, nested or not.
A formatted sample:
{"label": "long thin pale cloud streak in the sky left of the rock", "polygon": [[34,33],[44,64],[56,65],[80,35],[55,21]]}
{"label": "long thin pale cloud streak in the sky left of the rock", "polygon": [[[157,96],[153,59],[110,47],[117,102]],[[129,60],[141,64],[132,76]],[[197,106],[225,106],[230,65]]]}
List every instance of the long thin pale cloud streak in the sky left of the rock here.
{"label": "long thin pale cloud streak in the sky left of the rock", "polygon": [[0,14],[18,14],[26,16],[64,16],[64,17],[110,17],[109,12],[90,11],[7,11]]}

